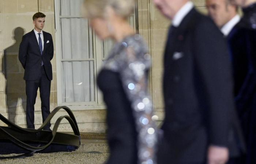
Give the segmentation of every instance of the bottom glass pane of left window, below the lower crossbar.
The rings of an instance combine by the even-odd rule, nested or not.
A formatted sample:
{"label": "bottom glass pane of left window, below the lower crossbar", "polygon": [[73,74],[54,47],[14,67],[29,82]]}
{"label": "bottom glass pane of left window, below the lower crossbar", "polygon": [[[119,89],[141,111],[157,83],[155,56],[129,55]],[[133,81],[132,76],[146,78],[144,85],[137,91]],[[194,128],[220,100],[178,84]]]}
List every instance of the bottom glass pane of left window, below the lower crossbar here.
{"label": "bottom glass pane of left window, below the lower crossbar", "polygon": [[94,62],[62,62],[62,102],[95,102]]}

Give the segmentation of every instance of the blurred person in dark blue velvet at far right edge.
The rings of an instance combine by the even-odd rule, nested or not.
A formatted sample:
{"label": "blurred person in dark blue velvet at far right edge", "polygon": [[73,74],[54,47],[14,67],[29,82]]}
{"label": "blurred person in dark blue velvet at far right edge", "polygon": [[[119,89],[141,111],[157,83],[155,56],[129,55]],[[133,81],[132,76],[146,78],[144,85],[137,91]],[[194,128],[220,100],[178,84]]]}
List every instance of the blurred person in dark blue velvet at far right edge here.
{"label": "blurred person in dark blue velvet at far right edge", "polygon": [[256,163],[256,0],[230,0],[242,8],[239,29],[230,39],[236,106],[247,146],[243,164]]}

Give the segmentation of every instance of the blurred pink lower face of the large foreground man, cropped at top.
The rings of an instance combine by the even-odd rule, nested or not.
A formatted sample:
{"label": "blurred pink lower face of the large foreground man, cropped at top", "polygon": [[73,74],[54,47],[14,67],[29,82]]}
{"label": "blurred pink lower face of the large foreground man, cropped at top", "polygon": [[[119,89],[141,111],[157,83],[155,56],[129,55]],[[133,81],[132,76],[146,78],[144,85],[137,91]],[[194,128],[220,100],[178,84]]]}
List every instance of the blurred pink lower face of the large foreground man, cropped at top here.
{"label": "blurred pink lower face of the large foreground man, cropped at top", "polygon": [[164,16],[173,19],[180,8],[188,1],[189,0],[154,0],[154,3]]}

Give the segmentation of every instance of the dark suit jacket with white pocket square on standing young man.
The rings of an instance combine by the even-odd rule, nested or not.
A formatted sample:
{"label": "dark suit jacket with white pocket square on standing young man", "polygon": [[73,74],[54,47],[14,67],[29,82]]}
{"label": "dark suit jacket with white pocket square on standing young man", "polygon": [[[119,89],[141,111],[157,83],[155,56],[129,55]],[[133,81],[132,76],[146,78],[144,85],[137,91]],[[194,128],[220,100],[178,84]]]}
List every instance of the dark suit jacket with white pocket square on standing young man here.
{"label": "dark suit jacket with white pocket square on standing young man", "polygon": [[52,35],[43,31],[44,51],[41,55],[34,30],[22,37],[19,47],[19,60],[25,69],[24,79],[35,81],[41,72],[41,63],[44,62],[45,72],[49,80],[52,80],[53,40]]}

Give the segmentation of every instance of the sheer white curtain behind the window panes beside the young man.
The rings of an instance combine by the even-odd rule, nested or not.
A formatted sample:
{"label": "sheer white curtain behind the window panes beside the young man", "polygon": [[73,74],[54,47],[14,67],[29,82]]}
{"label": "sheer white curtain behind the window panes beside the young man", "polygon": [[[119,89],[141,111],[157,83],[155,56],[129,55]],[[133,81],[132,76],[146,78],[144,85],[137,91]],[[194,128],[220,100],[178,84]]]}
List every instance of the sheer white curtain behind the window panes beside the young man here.
{"label": "sheer white curtain behind the window panes beside the young man", "polygon": [[60,0],[62,102],[94,102],[93,35],[81,18],[83,0]]}

